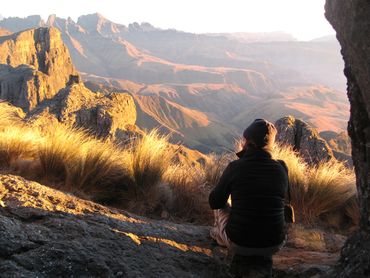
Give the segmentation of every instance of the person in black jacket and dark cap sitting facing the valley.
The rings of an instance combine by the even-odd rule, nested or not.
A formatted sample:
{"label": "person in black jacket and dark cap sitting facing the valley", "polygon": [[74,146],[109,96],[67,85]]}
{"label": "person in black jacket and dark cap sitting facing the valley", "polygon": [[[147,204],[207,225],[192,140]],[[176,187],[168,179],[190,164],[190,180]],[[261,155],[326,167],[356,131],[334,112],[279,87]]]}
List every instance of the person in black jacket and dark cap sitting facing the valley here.
{"label": "person in black jacket and dark cap sitting facing the valley", "polygon": [[233,254],[264,258],[271,263],[270,272],[272,255],[286,239],[288,175],[285,163],[272,159],[276,133],[275,126],[264,119],[249,125],[239,159],[226,167],[209,195],[215,215],[211,237]]}

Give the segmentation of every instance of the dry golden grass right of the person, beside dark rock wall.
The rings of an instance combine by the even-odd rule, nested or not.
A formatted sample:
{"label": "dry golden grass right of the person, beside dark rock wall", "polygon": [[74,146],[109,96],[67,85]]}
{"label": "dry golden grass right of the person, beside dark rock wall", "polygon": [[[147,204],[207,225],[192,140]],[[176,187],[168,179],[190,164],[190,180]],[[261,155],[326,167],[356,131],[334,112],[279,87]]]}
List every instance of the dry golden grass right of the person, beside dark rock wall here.
{"label": "dry golden grass right of the person, beside dark rock wall", "polygon": [[[353,203],[356,195],[354,172],[337,160],[307,165],[291,147],[276,146],[276,159],[284,160],[289,169],[289,181],[293,207],[300,222],[316,224],[325,214],[333,214],[341,208],[351,211],[348,216],[356,224]],[[347,206],[352,206],[352,208]]]}

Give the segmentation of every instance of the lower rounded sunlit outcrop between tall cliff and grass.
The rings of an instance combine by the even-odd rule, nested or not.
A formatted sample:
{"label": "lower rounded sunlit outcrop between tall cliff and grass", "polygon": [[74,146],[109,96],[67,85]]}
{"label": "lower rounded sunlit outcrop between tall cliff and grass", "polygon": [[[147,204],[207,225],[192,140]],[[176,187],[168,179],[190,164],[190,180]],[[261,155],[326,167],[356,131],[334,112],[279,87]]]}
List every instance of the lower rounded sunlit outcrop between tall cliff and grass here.
{"label": "lower rounded sunlit outcrop between tall cliff and grass", "polygon": [[93,93],[83,83],[77,83],[62,89],[54,99],[29,114],[31,121],[40,125],[49,125],[50,117],[102,138],[116,138],[135,131],[136,107],[129,94]]}

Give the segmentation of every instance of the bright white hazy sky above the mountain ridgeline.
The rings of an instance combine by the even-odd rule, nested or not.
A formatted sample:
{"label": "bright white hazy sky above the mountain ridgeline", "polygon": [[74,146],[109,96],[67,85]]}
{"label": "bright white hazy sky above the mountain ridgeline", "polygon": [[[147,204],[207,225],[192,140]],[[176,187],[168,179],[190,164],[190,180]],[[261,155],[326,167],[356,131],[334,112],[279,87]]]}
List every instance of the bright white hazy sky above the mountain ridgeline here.
{"label": "bright white hazy sky above the mountain ridgeline", "polygon": [[1,0],[2,16],[49,14],[72,17],[99,12],[127,25],[205,32],[285,31],[309,40],[334,30],[324,17],[325,0]]}

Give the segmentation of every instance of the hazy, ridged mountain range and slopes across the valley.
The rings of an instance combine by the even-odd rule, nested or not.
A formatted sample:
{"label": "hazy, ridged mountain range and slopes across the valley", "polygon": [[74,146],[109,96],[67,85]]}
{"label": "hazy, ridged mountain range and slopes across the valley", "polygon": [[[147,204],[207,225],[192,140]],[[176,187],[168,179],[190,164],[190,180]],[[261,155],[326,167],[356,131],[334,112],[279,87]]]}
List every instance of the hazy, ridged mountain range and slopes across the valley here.
{"label": "hazy, ridged mountain range and slopes across the valley", "polygon": [[56,15],[47,22],[10,18],[0,27],[10,22],[11,31],[30,22],[59,29],[84,81],[130,93],[141,128],[159,127],[192,148],[230,149],[241,130],[261,117],[293,115],[320,131],[346,128],[349,105],[336,41],[192,34],[149,23],[125,26],[100,14],[77,22]]}

